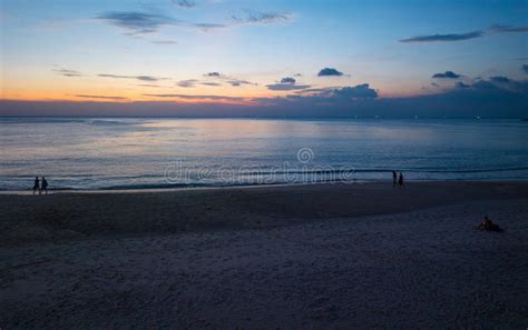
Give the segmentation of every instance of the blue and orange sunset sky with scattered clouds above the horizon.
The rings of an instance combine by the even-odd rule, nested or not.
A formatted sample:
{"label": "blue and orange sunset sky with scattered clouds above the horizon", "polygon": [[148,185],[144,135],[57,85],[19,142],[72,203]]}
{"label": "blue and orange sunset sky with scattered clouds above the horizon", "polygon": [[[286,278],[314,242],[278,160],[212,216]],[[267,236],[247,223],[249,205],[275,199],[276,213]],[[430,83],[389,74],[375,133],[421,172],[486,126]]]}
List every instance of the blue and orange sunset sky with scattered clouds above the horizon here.
{"label": "blue and orange sunset sky with scattered clouds above the horizon", "polygon": [[0,3],[0,114],[528,117],[526,0]]}

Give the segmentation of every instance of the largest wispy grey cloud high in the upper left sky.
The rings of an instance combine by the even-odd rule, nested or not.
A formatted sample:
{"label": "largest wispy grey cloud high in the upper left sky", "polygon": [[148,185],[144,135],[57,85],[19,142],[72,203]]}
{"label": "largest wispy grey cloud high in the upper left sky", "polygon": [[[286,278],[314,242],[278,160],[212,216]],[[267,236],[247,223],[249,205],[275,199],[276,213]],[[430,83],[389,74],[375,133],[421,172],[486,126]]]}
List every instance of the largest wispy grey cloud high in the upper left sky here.
{"label": "largest wispy grey cloud high in the upper left sky", "polygon": [[176,24],[179,21],[158,13],[138,11],[109,11],[95,19],[126,29],[129,34],[145,34],[158,31],[162,26]]}

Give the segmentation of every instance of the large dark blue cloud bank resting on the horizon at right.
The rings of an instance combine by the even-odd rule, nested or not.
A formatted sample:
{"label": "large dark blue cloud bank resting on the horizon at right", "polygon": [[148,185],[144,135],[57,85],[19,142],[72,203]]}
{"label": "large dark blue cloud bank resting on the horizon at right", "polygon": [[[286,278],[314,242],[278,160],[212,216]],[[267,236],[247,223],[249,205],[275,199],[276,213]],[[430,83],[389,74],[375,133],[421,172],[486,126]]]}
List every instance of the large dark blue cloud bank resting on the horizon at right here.
{"label": "large dark blue cloud bank resting on the horizon at right", "polygon": [[[368,84],[325,89],[311,94],[261,99],[268,116],[299,117],[452,117],[526,118],[528,81],[508,84],[480,80],[434,94],[378,99]],[[296,110],[302,109],[302,110]],[[295,112],[296,111],[296,112]]]}

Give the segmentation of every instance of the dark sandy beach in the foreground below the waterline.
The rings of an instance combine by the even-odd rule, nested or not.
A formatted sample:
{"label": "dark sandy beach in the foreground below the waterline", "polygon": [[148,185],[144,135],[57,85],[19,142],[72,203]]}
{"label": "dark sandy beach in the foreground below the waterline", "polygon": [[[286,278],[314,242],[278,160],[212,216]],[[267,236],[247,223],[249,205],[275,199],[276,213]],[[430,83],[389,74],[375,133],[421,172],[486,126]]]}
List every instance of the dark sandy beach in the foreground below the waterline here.
{"label": "dark sandy beach in the foreground below the waterline", "polygon": [[[0,194],[2,329],[528,327],[528,183]],[[473,228],[485,216],[502,232]]]}

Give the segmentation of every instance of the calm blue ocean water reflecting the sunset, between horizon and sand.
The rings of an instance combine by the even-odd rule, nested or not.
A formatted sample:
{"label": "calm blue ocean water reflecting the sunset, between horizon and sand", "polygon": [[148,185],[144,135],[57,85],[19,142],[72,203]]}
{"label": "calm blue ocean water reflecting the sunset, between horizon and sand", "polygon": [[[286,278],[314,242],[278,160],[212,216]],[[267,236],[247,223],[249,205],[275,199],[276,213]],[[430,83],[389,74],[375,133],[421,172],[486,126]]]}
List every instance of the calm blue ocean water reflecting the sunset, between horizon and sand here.
{"label": "calm blue ocean water reflecting the sunset, between horizon and sand", "polygon": [[0,189],[527,180],[519,120],[0,118]]}

